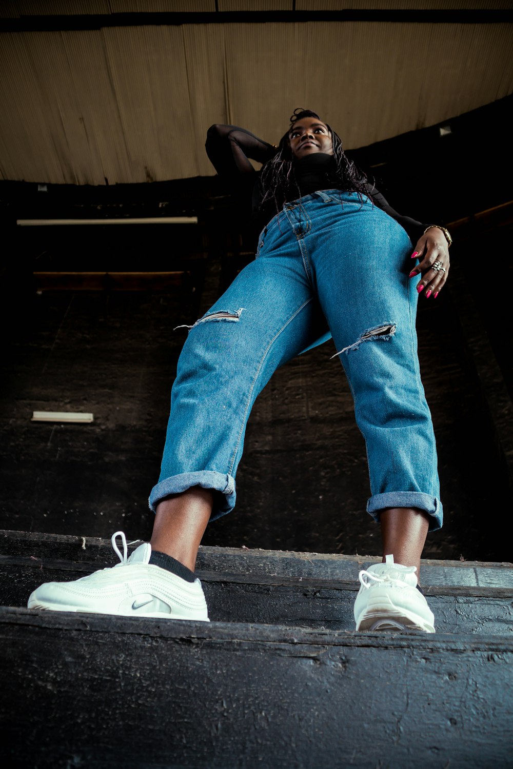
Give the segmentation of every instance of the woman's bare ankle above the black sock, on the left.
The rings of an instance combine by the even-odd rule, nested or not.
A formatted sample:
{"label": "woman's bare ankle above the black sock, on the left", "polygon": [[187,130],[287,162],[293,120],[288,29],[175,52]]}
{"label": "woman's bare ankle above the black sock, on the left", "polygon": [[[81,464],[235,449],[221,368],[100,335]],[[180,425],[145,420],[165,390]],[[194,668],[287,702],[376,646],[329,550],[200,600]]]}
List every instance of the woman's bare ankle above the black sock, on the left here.
{"label": "woman's bare ankle above the black sock, on the left", "polygon": [[193,486],[160,501],[150,540],[153,551],[171,555],[194,571],[198,547],[212,514],[212,489]]}

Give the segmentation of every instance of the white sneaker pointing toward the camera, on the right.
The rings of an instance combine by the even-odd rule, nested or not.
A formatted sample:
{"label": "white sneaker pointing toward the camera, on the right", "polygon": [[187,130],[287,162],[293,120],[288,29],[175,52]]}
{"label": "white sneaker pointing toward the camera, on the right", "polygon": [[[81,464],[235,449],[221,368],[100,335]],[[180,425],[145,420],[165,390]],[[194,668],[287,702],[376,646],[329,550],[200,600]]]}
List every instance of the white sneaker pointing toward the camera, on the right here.
{"label": "white sneaker pointing toward the camera, on the right", "polygon": [[355,601],[356,629],[434,633],[435,616],[417,590],[417,567],[395,564],[393,555],[385,556],[385,561],[358,574],[361,588]]}

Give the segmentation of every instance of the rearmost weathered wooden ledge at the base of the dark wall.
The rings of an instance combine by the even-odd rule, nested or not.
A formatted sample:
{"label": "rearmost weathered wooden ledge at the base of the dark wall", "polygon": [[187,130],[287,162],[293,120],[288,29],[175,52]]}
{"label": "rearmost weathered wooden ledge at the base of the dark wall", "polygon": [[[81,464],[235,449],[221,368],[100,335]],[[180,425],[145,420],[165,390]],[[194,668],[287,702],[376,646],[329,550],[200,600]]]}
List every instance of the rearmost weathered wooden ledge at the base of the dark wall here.
{"label": "rearmost weathered wooden ledge at the base of the dark wall", "polygon": [[[128,548],[135,549],[140,541]],[[5,556],[28,556],[52,561],[72,561],[98,564],[97,568],[114,565],[117,556],[110,539],[72,537],[64,534],[43,534],[25,531],[0,531],[0,553]],[[248,548],[200,547],[198,571],[230,572],[232,574],[268,574],[269,576],[358,580],[358,571],[380,561],[375,555],[338,555],[299,553]],[[513,588],[513,564],[481,561],[421,561],[421,580],[430,585],[457,587]]]}

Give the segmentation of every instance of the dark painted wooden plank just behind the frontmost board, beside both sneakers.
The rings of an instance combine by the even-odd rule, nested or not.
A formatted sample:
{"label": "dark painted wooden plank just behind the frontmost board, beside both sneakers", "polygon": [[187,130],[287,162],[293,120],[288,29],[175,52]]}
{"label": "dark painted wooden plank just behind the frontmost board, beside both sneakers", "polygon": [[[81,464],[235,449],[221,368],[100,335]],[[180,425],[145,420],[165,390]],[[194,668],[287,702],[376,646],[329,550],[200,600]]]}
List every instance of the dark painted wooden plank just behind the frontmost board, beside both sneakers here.
{"label": "dark painted wooden plank just behind the frontmost board, beside both sneakers", "polygon": [[[0,556],[0,604],[25,607],[42,582],[84,577],[98,564]],[[353,630],[355,581],[198,571],[211,620]],[[431,587],[425,593],[437,631],[506,635],[513,631],[513,589]]]}

